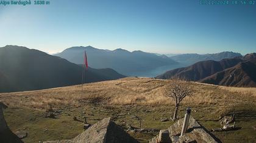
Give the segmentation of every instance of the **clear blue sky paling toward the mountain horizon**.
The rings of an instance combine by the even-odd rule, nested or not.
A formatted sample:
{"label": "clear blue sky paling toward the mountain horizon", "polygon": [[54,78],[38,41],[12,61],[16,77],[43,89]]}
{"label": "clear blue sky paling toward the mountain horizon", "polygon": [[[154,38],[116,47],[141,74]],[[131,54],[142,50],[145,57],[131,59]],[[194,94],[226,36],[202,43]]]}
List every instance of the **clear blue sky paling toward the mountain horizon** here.
{"label": "clear blue sky paling toward the mountain horizon", "polygon": [[78,45],[155,53],[256,52],[256,4],[49,1],[0,5],[0,47],[23,45],[49,53]]}

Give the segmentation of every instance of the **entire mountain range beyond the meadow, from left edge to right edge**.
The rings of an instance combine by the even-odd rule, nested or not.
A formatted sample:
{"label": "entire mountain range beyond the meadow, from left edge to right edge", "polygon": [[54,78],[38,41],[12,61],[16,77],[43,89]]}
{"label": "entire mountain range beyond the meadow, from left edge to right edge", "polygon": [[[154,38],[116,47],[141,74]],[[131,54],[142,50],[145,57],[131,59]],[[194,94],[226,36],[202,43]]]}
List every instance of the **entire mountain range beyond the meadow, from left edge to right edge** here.
{"label": "entire mountain range beyond the meadow, from left edge to right edge", "polygon": [[[119,72],[135,75],[136,71],[143,73],[165,65],[177,67],[181,65],[166,55],[141,51],[129,52],[121,48],[111,51],[91,46],[71,47],[52,56],[39,50],[7,45],[0,48],[0,92],[39,90],[80,84],[82,76],[80,64],[82,64],[85,50],[90,65],[85,74],[85,82],[124,78],[125,76]],[[234,56],[235,58],[230,58]],[[193,55],[189,57],[191,59]],[[254,53],[246,56],[233,52],[208,54],[208,58],[216,61],[201,61],[188,67],[165,70],[166,73],[156,78],[177,77],[218,85],[254,86],[255,74],[252,73],[255,71],[255,57]],[[194,57],[194,59],[198,58]],[[218,59],[221,60],[218,61]],[[93,66],[94,68],[91,68]],[[242,78],[232,78],[234,74]],[[237,82],[238,79],[243,82]]]}

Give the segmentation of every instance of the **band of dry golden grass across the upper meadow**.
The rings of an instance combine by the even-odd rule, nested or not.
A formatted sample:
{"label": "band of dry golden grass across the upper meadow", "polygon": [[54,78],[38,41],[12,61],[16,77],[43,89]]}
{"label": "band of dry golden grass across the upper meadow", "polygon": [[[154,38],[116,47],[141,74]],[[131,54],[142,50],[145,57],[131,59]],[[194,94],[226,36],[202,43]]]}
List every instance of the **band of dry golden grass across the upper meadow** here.
{"label": "band of dry golden grass across the upper meadow", "polygon": [[[81,85],[0,93],[0,100],[8,105],[38,110],[45,110],[50,105],[79,107],[81,103],[86,104],[86,102],[111,105],[173,105],[174,102],[163,95],[163,90],[168,82],[171,81],[152,78],[123,78],[84,84],[83,100],[81,100]],[[193,85],[194,93],[193,96],[185,98],[182,104],[222,106],[226,104],[226,101],[229,101],[230,105],[255,101],[255,88],[219,87],[197,82],[187,82],[187,84]],[[246,94],[247,98],[241,100],[241,94]]]}

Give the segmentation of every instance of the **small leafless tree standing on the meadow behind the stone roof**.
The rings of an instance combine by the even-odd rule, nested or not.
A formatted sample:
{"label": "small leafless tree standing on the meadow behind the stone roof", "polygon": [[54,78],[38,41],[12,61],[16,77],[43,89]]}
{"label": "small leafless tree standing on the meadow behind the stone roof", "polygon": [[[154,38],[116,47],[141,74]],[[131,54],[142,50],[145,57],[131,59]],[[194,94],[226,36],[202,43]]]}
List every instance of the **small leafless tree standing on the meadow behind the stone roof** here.
{"label": "small leafless tree standing on the meadow behind the stone roof", "polygon": [[192,88],[190,83],[187,81],[171,79],[170,83],[166,85],[165,96],[168,96],[175,101],[173,120],[177,119],[180,102],[182,102],[185,97],[190,96],[191,93]]}

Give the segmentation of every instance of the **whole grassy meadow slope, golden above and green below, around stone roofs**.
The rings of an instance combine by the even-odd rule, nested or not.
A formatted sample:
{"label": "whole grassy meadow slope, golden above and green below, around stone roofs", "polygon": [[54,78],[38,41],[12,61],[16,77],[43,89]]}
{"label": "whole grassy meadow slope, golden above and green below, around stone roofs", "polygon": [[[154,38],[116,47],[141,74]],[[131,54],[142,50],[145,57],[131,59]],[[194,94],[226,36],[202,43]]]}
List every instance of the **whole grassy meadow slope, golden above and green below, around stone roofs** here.
{"label": "whole grassy meadow slope, golden above and green below, around stone roofs", "polygon": [[[119,125],[126,123],[138,127],[137,119],[143,119],[142,128],[164,129],[173,122],[160,122],[169,118],[174,110],[173,102],[163,96],[163,88],[169,81],[151,78],[124,78],[115,81],[85,84],[83,102],[80,102],[80,86],[51,88],[38,91],[1,93],[0,100],[9,105],[5,119],[11,130],[25,128],[28,132],[25,142],[54,139],[70,139],[82,132],[82,123],[73,121],[73,116],[82,120],[82,107],[93,124],[102,118],[112,116]],[[255,142],[256,88],[231,88],[190,82],[194,95],[184,99],[180,117],[186,107],[192,107],[192,116],[208,130],[220,127],[215,121],[222,114],[232,111],[235,105],[238,127],[241,130],[213,132],[223,142]],[[51,105],[60,113],[57,119],[43,117]],[[47,130],[46,130],[47,129]],[[147,141],[157,135],[130,133],[140,141]]]}

